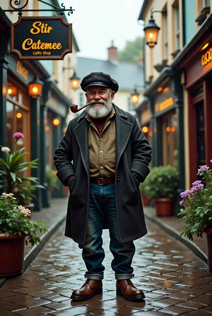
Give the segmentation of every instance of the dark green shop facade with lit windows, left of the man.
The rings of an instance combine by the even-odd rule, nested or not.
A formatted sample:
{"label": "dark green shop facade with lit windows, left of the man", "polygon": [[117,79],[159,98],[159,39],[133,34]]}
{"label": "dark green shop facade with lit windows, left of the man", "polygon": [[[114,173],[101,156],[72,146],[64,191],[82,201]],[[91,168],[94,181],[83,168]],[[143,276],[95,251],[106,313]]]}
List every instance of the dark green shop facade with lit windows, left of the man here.
{"label": "dark green shop facade with lit windows, left of the man", "polygon": [[[4,20],[5,19],[5,20]],[[38,168],[25,171],[27,176],[40,179],[46,190],[35,192],[34,210],[49,207],[49,191],[45,170],[53,167],[53,155],[64,134],[66,116],[70,100],[56,87],[50,74],[41,63],[31,59],[19,59],[10,51],[10,21],[0,18],[0,144],[12,152],[15,147],[13,134],[24,134],[21,147],[26,147],[27,160],[38,160]],[[29,94],[29,84],[37,76],[43,82],[42,94],[33,98]],[[49,131],[48,131],[49,126]],[[49,138],[47,134],[49,135]],[[18,147],[17,147],[18,148]],[[0,151],[0,156],[3,152]],[[63,187],[53,197],[64,197]]]}

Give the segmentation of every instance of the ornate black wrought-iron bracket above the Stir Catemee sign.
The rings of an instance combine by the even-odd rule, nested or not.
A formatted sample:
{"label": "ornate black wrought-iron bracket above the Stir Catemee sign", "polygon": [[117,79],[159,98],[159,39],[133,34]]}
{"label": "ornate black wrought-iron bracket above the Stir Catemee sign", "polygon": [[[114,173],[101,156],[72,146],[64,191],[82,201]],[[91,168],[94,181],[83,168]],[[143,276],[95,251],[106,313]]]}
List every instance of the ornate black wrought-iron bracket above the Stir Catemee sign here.
{"label": "ornate black wrought-iron bracket above the Stir Catemee sign", "polygon": [[[9,1],[9,5],[11,8],[11,10],[3,10],[3,9],[0,9],[0,14],[1,15],[5,15],[5,12],[18,12],[18,15],[19,16],[22,16],[22,12],[30,12],[30,11],[38,11],[38,12],[41,12],[41,11],[52,11],[52,12],[60,12],[60,15],[64,15],[64,12],[65,11],[68,11],[68,15],[70,14],[73,14],[73,11],[75,11],[74,9],[72,9],[72,7],[70,7],[70,9],[66,9],[64,4],[62,3],[61,6],[62,8],[60,7],[57,7],[56,5],[53,5],[53,4],[50,4],[50,3],[46,3],[45,1],[43,0],[37,0],[39,2],[42,2],[44,4],[47,4],[49,5],[50,7],[52,7],[53,9],[24,9],[27,4],[28,4],[28,1],[29,0],[25,0],[26,3],[24,5],[21,6],[21,0],[10,0]],[[14,3],[14,4],[13,4]]]}

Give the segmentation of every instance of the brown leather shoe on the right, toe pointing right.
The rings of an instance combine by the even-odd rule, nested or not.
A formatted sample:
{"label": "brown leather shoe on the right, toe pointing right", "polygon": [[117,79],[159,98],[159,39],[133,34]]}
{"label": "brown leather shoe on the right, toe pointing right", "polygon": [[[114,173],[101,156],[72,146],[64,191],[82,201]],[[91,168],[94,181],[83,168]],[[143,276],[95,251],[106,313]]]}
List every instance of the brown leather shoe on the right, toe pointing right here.
{"label": "brown leather shoe on the right, toe pointing right", "polygon": [[116,294],[124,296],[127,301],[135,301],[145,298],[144,292],[136,289],[131,280],[116,280]]}

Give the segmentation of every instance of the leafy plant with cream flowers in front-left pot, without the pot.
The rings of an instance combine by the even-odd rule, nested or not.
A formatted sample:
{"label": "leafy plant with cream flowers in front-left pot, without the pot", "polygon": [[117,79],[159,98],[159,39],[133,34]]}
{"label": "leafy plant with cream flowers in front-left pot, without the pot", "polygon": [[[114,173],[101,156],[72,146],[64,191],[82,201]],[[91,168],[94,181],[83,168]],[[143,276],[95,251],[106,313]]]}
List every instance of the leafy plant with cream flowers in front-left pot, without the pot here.
{"label": "leafy plant with cream flowers in front-left pot, without the pot", "polygon": [[30,210],[17,204],[13,193],[3,193],[0,197],[0,233],[6,234],[26,234],[26,245],[29,243],[34,246],[41,244],[37,231],[47,232],[44,223],[31,221],[27,218]]}

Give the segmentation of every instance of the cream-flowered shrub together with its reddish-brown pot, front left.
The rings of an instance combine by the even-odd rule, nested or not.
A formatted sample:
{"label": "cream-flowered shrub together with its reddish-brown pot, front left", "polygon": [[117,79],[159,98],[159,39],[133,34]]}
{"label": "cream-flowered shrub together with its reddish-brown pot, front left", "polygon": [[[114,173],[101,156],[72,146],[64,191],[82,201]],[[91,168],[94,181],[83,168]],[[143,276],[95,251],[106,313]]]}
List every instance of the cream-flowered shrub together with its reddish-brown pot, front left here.
{"label": "cream-flowered shrub together with its reddish-brown pot, front left", "polygon": [[29,243],[41,243],[37,230],[47,232],[42,222],[27,218],[30,210],[17,204],[13,193],[0,197],[0,276],[21,273],[24,267],[24,248]]}

